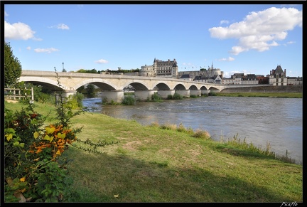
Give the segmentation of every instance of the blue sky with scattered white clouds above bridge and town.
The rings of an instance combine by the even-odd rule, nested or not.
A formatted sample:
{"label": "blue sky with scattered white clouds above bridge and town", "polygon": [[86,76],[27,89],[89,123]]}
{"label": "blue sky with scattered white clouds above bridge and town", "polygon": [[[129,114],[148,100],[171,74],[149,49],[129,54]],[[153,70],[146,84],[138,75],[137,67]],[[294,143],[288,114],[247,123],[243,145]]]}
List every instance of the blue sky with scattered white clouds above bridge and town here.
{"label": "blue sky with scattered white clouds above bridge and town", "polygon": [[4,4],[4,38],[23,70],[130,70],[156,58],[179,71],[213,65],[225,78],[277,65],[303,75],[302,4],[72,2]]}

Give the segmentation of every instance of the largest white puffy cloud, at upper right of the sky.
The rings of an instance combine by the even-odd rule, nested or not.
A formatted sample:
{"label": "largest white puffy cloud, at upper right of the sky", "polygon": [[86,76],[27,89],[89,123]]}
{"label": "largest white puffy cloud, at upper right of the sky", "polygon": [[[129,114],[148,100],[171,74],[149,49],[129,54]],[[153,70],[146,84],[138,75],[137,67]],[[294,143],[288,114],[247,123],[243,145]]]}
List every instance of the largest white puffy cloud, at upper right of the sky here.
{"label": "largest white puffy cloud, at upper right of the sky", "polygon": [[[222,22],[222,21],[221,21]],[[227,27],[210,28],[212,38],[237,38],[237,46],[233,46],[231,54],[237,55],[254,49],[262,52],[272,46],[279,46],[276,41],[282,41],[296,26],[302,26],[303,12],[294,8],[271,7],[264,11],[253,11],[243,21],[232,23]]]}

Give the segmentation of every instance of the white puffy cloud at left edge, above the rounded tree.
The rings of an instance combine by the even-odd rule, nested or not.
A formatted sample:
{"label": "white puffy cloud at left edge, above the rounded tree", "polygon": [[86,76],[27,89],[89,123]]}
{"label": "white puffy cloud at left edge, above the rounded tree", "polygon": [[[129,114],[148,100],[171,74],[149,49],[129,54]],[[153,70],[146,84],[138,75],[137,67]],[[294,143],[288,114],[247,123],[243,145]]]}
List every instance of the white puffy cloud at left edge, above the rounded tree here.
{"label": "white puffy cloud at left edge, above the rounded tree", "polygon": [[32,31],[31,27],[26,23],[18,22],[10,24],[9,22],[4,21],[4,38],[6,39],[25,41],[28,39],[36,40],[34,33],[36,32]]}

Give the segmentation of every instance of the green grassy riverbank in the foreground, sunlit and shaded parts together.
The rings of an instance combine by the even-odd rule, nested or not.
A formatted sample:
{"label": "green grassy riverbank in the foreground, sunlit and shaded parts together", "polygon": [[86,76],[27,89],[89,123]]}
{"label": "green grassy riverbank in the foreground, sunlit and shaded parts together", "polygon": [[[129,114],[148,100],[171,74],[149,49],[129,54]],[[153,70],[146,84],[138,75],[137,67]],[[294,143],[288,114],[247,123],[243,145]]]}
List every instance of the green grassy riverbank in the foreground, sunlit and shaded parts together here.
{"label": "green grassy riverbank in the foreground, sunlit and shaded parts together", "polygon": [[[36,105],[43,115],[54,110]],[[6,102],[5,107],[19,110],[22,105]],[[54,116],[46,121],[53,122]],[[303,166],[252,152],[246,144],[90,112],[72,122],[83,127],[77,134],[82,141],[115,143],[97,147],[102,154],[95,154],[74,142],[63,154],[72,160],[68,171],[80,194],[76,202],[303,202]]]}

